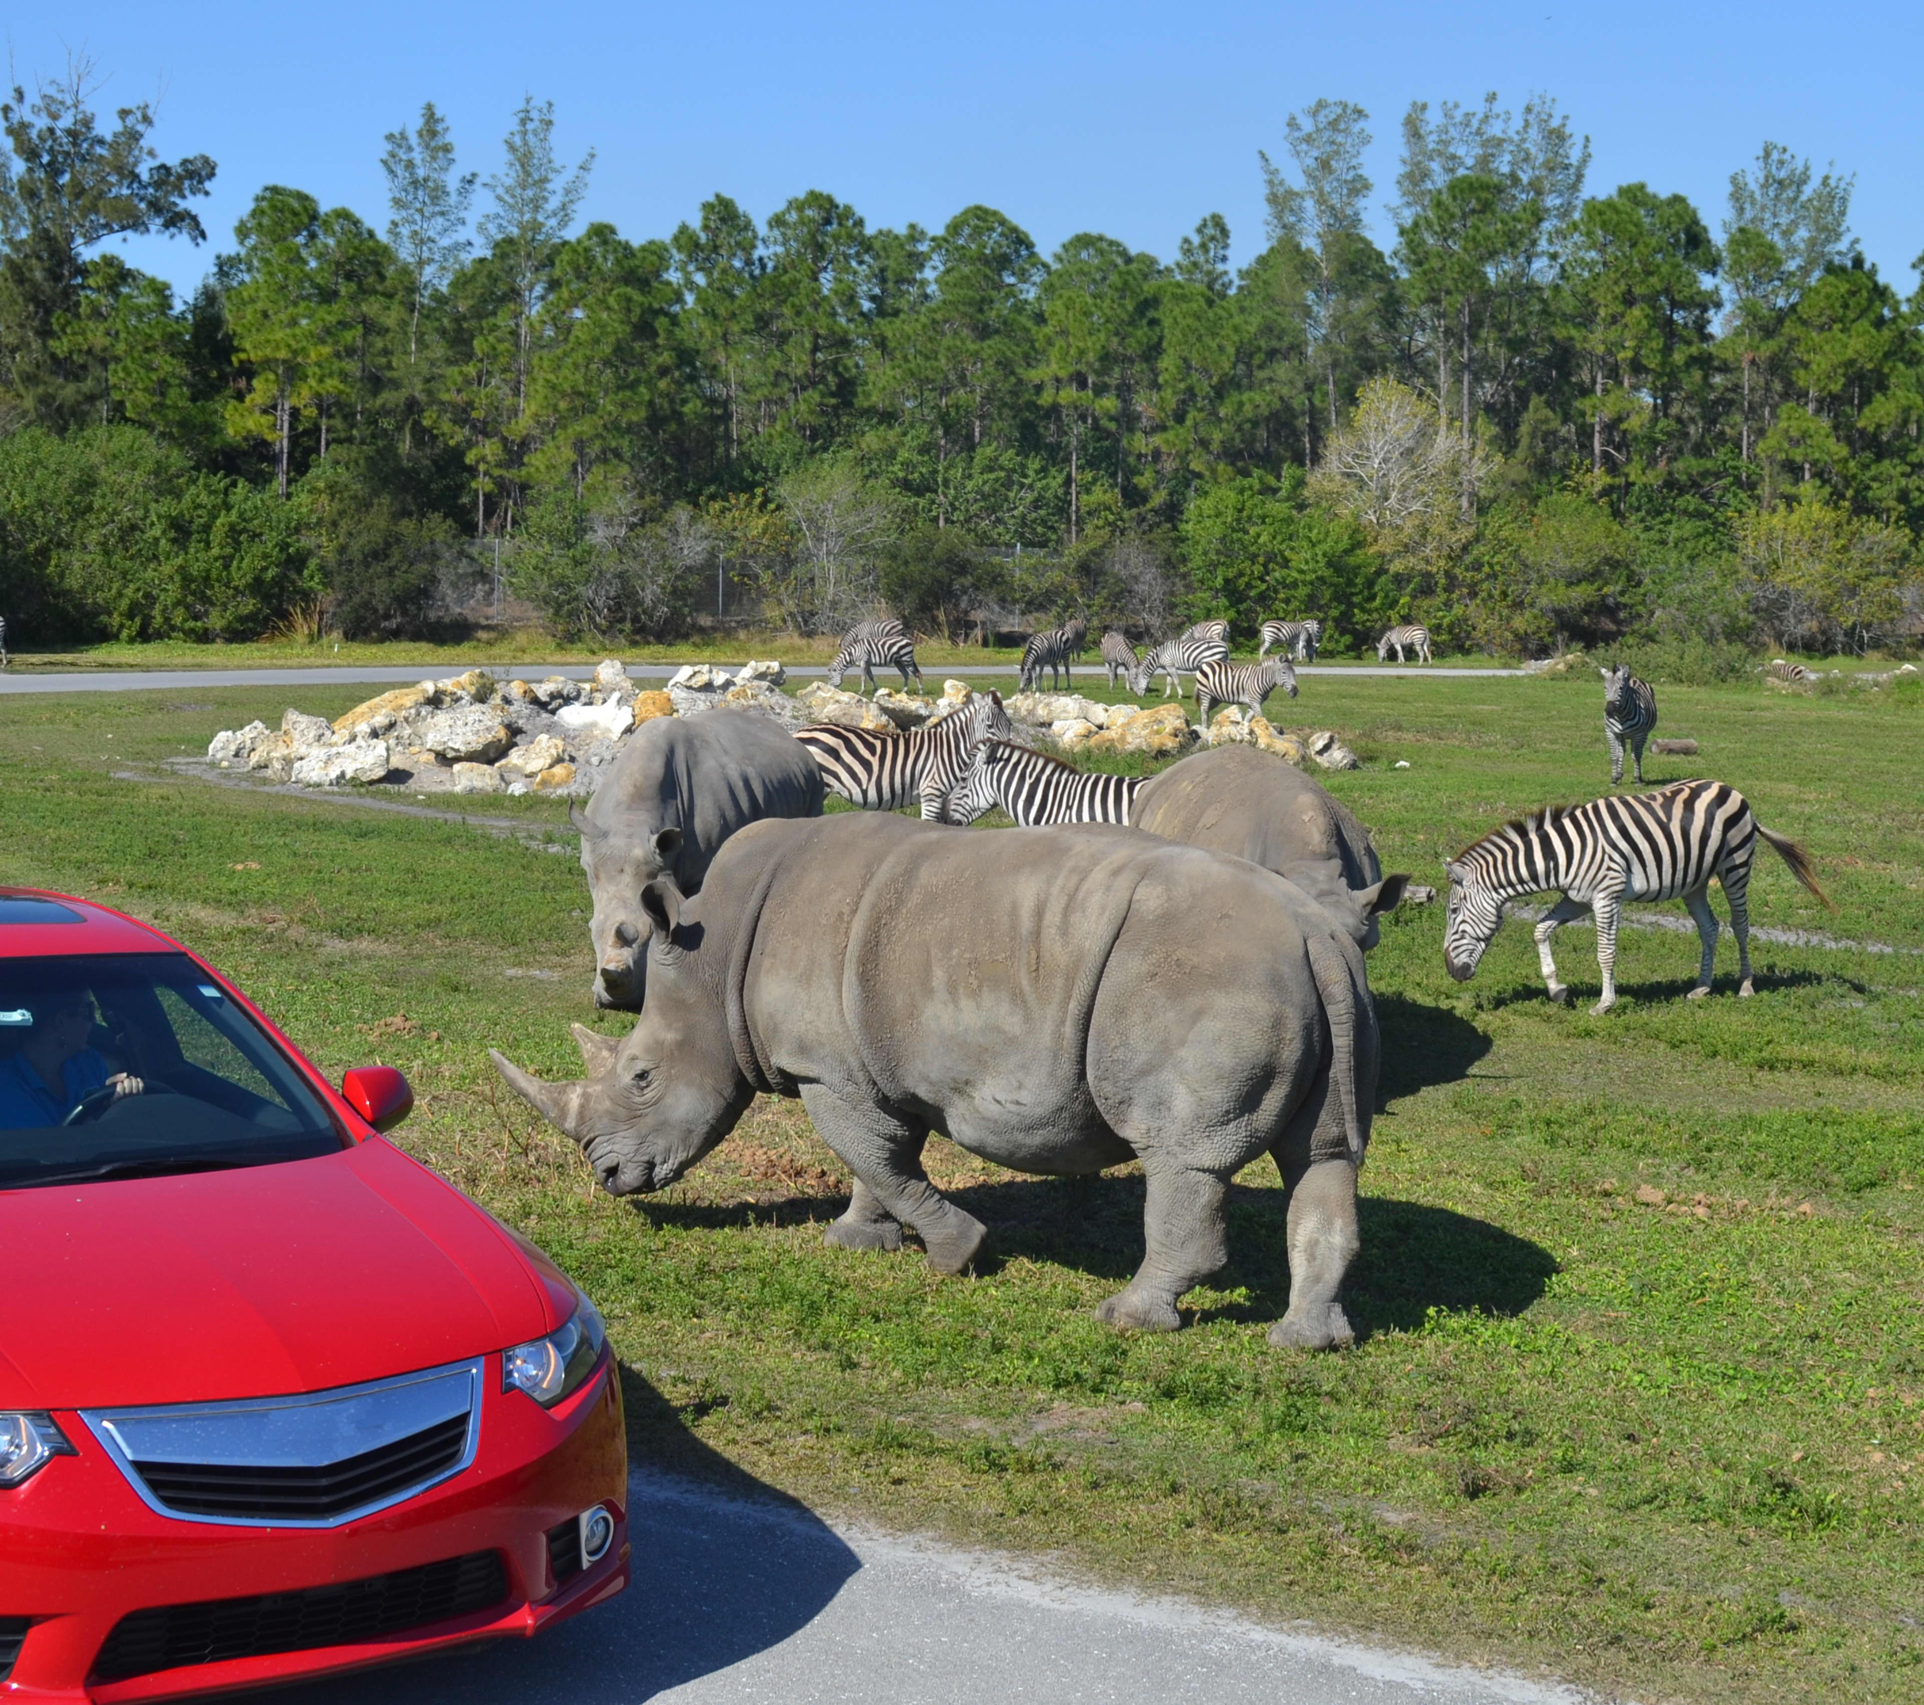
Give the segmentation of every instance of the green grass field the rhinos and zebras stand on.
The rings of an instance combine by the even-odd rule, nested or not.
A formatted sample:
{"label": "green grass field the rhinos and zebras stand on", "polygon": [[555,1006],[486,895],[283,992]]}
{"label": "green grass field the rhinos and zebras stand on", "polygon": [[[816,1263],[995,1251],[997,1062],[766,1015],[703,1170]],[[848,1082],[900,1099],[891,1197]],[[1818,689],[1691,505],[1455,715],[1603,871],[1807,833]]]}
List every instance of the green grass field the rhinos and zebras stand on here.
{"label": "green grass field the rhinos and zebras stand on", "polygon": [[[1924,1692],[1916,689],[1664,689],[1658,733],[1703,749],[1647,766],[1741,787],[1810,849],[1835,916],[1760,854],[1757,924],[1895,951],[1753,943],[1759,993],[1739,1003],[1726,941],[1718,997],[1685,1005],[1695,937],[1626,929],[1624,1003],[1593,1020],[1585,928],[1558,937],[1580,997],[1560,1010],[1522,924],[1456,985],[1439,908],[1387,920],[1349,1287],[1362,1341],[1326,1357],[1262,1337],[1287,1293],[1266,1162],[1237,1187],[1231,1266],[1168,1337],[1089,1314],[1139,1257],[1129,1170],[1024,1180],[931,1143],[937,1183],[995,1237],[962,1282],[916,1253],[822,1247],[845,1172],[793,1103],[760,1103],[662,1197],[595,1193],[483,1056],[575,1070],[589,953],[571,856],[114,779],[158,776],[285,697],[6,702],[0,879],[181,933],[333,1074],[402,1066],[421,1110],[398,1139],[602,1303],[639,1457],[1610,1693]],[[1608,777],[1593,677],[1310,677],[1270,708],[1364,756],[1329,787],[1385,870],[1420,881],[1505,816]],[[558,802],[512,804],[560,829]]]}

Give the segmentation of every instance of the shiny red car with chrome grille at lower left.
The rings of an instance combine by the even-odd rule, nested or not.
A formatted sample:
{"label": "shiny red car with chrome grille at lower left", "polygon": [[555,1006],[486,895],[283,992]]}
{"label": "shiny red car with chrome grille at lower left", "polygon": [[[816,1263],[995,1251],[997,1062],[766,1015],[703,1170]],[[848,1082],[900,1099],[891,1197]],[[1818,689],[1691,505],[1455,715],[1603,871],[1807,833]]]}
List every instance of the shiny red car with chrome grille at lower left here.
{"label": "shiny red car with chrome grille at lower left", "polygon": [[595,1305],[212,966],[0,889],[0,1701],[535,1634],[629,1580]]}

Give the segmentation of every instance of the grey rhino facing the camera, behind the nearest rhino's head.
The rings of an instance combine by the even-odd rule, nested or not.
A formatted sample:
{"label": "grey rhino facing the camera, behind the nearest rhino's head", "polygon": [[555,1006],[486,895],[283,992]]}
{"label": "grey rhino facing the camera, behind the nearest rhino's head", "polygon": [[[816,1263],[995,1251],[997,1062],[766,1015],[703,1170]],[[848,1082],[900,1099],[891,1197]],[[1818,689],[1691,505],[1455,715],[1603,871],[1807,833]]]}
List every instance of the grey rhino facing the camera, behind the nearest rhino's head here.
{"label": "grey rhino facing the camera, behind the nearest rhino's head", "polygon": [[822,766],[768,716],[710,710],[645,722],[608,766],[585,812],[581,868],[595,916],[595,1005],[641,1006],[648,918],[641,891],[673,876],[698,893],[737,829],[762,818],[822,816]]}

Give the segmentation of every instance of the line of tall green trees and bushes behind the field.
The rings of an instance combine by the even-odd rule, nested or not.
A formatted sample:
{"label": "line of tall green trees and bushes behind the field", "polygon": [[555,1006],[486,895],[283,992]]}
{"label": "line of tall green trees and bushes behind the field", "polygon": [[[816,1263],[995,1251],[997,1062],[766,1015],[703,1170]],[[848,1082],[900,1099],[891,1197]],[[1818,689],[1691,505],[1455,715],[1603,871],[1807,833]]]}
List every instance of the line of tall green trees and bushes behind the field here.
{"label": "line of tall green trees and bushes behind the field", "polygon": [[1220,214],[1170,262],[1043,256],[987,206],[870,229],[822,191],[629,241],[581,225],[552,102],[487,177],[427,104],[385,137],[385,225],[267,185],[175,300],[108,244],[204,242],[215,165],[90,92],[73,65],[0,104],[29,635],[419,633],[494,552],[606,639],[718,587],[797,631],[1318,614],[1337,647],[1418,618],[1512,654],[1924,625],[1924,285],[1862,258],[1853,179],[1774,142],[1712,235],[1680,194],[1591,194],[1549,98],[1416,102],[1385,252],[1372,119],[1318,100],[1233,271]]}

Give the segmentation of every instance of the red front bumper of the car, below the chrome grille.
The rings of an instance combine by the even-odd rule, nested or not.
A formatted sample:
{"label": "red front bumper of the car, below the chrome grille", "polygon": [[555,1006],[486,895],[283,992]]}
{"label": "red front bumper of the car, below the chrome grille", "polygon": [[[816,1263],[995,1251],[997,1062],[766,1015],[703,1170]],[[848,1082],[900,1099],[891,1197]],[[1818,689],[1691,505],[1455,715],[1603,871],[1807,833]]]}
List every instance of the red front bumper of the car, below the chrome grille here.
{"label": "red front bumper of the car, below the chrome grille", "polygon": [[[627,1441],[614,1357],[566,1403],[541,1409],[500,1389],[487,1357],[475,1459],[419,1497],[342,1528],[240,1528],[175,1520],[139,1497],[75,1414],[56,1414],[79,1455],[0,1491],[0,1618],[29,1616],[0,1701],[169,1699],[256,1688],[416,1657],[500,1636],[531,1636],[614,1597],[629,1580]],[[556,1582],[548,1530],[591,1505],[616,1511],[606,1555]],[[506,1597],[468,1616],[354,1645],[196,1663],[100,1680],[115,1624],[160,1605],[250,1599],[366,1580],[493,1551]]]}

